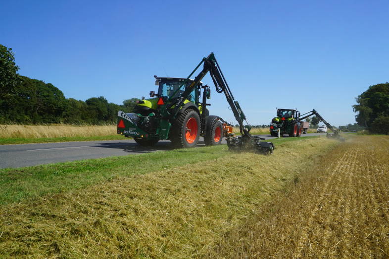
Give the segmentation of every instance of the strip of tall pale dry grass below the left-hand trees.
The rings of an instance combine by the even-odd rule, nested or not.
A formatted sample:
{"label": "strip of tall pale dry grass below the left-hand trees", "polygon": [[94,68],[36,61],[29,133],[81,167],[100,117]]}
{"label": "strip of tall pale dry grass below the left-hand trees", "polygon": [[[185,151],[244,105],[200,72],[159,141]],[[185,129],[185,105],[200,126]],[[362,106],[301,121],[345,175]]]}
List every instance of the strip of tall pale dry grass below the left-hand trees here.
{"label": "strip of tall pale dry grass below the left-hand trees", "polygon": [[74,126],[74,125],[0,125],[0,138],[60,138],[94,137],[116,134],[115,125]]}

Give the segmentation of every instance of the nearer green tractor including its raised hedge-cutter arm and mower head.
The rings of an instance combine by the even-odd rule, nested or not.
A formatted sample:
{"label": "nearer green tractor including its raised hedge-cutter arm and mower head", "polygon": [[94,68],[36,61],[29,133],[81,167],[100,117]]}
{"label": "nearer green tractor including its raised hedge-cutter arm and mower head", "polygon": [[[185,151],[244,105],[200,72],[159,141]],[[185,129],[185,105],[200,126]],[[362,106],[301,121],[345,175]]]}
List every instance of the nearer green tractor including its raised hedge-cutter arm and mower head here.
{"label": "nearer green tractor including its raised hedge-cutter arm and mower head", "polygon": [[[203,64],[201,72],[191,76]],[[227,102],[240,125],[241,137],[232,133],[232,125],[217,115],[209,115],[206,108],[210,104],[210,87],[201,79],[209,73],[216,92],[224,93]],[[204,137],[207,146],[219,145],[227,138],[227,145],[234,150],[252,147],[256,151],[272,153],[273,144],[260,142],[249,134],[250,126],[246,117],[222,74],[213,53],[203,58],[187,78],[157,77],[154,75],[158,91],[150,92],[149,99],[136,105],[133,113],[118,112],[117,133],[133,137],[142,146],[153,146],[159,140],[171,140],[177,148],[192,148]],[[243,125],[246,121],[247,125]]]}

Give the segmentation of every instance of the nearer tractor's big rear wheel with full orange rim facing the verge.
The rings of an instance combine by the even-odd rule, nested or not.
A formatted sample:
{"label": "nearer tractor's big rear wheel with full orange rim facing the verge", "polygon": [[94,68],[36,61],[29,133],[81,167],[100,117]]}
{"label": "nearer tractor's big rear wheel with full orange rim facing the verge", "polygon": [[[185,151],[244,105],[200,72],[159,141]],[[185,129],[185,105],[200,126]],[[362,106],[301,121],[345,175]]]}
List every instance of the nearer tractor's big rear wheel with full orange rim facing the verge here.
{"label": "nearer tractor's big rear wheel with full orange rim facing the verge", "polygon": [[176,148],[193,148],[200,137],[200,116],[192,109],[182,112],[172,125],[170,140]]}

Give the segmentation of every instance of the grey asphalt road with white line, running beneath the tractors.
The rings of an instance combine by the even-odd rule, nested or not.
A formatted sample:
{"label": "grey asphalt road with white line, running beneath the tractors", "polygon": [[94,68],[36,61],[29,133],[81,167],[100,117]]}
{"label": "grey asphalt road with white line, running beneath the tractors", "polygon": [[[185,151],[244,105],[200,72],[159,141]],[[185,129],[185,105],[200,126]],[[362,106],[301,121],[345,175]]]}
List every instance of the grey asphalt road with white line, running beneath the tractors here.
{"label": "grey asphalt road with white line, running beneath the tractors", "polygon": [[[319,135],[325,135],[325,133],[311,133],[302,136]],[[274,139],[274,137],[271,137],[270,135],[260,136],[265,139]],[[223,143],[226,144],[224,139]],[[200,139],[198,146],[204,146],[202,139]],[[135,143],[134,140],[127,138],[115,141],[3,145],[0,146],[0,168],[17,168],[88,158],[142,154],[154,152],[156,150],[170,149],[170,141],[160,141],[152,148],[144,148]]]}

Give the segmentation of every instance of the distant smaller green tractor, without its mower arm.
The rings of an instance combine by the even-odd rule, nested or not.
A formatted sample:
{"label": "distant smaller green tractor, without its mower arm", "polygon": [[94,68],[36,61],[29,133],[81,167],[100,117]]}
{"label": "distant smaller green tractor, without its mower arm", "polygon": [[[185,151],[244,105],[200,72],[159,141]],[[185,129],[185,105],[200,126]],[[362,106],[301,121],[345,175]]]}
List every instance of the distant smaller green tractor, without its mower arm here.
{"label": "distant smaller green tractor, without its mower arm", "polygon": [[[270,124],[270,135],[273,137],[288,134],[289,137],[300,137],[301,133],[306,134],[306,126],[300,121],[300,112],[292,109],[277,109],[277,116]],[[309,126],[308,126],[309,127]]]}

